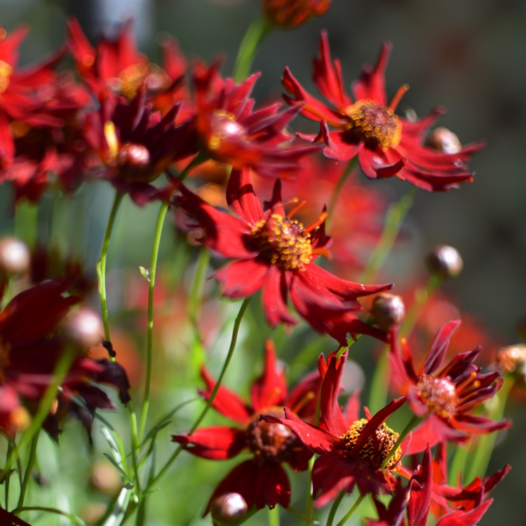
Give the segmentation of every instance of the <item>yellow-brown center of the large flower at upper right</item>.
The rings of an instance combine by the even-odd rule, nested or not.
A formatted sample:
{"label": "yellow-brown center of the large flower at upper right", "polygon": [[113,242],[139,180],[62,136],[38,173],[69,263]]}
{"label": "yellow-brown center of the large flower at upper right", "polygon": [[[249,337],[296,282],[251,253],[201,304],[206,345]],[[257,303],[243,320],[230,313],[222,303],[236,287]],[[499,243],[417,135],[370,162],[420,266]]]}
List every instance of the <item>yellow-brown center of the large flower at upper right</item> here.
{"label": "yellow-brown center of the large flower at upper right", "polygon": [[382,106],[375,100],[362,99],[346,107],[345,115],[349,119],[348,133],[353,140],[383,150],[400,143],[402,123],[391,107]]}

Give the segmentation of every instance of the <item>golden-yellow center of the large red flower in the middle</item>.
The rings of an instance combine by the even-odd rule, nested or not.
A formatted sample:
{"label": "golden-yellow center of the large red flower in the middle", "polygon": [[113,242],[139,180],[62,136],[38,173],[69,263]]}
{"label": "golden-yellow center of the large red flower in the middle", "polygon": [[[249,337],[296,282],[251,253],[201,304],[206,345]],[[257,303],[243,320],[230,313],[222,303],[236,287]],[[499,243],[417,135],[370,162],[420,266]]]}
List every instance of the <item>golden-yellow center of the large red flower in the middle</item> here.
{"label": "golden-yellow center of the large red flower in the middle", "polygon": [[255,224],[252,238],[259,253],[281,269],[304,270],[311,262],[311,235],[299,221],[272,214]]}

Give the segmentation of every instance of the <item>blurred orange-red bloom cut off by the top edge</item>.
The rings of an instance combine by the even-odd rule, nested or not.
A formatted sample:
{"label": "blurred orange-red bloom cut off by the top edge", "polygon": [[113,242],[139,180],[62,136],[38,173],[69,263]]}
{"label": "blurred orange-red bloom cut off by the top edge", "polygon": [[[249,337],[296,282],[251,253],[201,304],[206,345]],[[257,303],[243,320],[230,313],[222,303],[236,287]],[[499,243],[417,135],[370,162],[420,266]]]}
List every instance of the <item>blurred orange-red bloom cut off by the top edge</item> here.
{"label": "blurred orange-red bloom cut off by the top edge", "polygon": [[330,8],[331,0],[263,0],[269,22],[282,27],[297,27],[321,16]]}

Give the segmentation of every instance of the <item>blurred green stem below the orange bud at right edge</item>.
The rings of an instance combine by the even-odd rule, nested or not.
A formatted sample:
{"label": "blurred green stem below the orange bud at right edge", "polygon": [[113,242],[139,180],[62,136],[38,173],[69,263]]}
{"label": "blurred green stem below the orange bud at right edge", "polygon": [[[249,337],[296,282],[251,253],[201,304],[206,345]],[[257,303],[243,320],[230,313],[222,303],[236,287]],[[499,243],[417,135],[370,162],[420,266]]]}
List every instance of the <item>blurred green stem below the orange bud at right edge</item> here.
{"label": "blurred green stem below the orange bud at right edge", "polygon": [[[504,409],[506,408],[506,401],[513,388],[515,381],[513,377],[504,377],[504,383],[497,395],[492,400],[492,407],[487,414],[487,417],[493,421],[501,420],[504,416]],[[471,482],[476,476],[484,477],[487,471],[487,466],[490,464],[495,440],[497,440],[498,431],[487,433],[480,436],[476,441],[475,450],[470,454],[470,465],[468,468],[468,476],[466,482]]]}

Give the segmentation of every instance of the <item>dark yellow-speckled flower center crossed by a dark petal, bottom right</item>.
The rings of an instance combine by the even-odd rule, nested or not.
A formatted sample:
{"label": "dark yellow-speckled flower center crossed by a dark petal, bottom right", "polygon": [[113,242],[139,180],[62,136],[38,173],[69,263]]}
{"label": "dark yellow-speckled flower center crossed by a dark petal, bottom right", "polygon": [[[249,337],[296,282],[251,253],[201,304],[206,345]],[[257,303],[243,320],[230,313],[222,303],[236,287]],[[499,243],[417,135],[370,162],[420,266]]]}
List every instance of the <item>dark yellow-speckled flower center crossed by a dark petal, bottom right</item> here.
{"label": "dark yellow-speckled flower center crossed by a dark petal, bottom right", "polygon": [[[353,450],[353,447],[356,445],[356,442],[358,442],[358,438],[366,424],[367,420],[365,418],[356,420],[356,422],[353,422],[349,430],[340,437],[345,441],[345,445],[349,450]],[[376,430],[376,439],[371,436],[363,447],[361,447],[360,451],[357,452],[358,456],[363,461],[369,463],[373,468],[379,469],[382,467],[384,460],[393,449],[399,437],[400,435],[393,431],[389,426],[382,424]],[[392,470],[396,464],[398,464],[400,457],[402,457],[402,450],[400,447],[397,447],[396,452],[389,459],[385,468],[389,471]]]}

